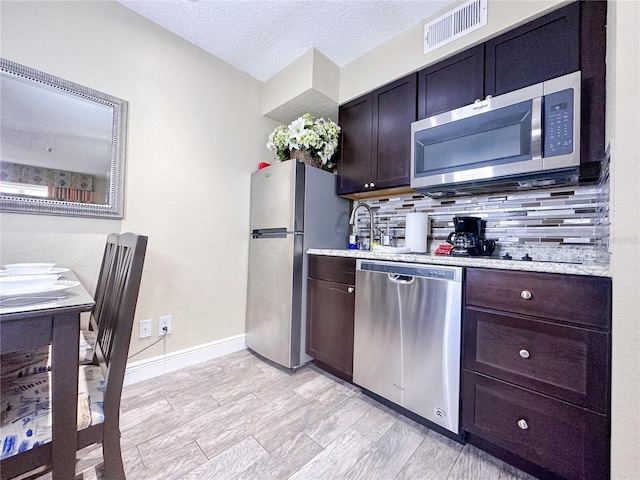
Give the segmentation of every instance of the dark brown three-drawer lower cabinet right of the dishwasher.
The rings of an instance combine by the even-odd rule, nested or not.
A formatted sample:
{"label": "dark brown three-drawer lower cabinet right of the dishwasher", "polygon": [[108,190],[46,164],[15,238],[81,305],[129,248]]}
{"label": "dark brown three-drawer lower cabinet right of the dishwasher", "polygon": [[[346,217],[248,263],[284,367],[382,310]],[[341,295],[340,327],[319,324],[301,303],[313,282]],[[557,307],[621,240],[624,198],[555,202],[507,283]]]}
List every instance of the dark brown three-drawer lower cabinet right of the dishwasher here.
{"label": "dark brown three-drawer lower cabinet right of the dishwasher", "polygon": [[469,443],[539,478],[608,479],[610,325],[610,278],[468,268]]}

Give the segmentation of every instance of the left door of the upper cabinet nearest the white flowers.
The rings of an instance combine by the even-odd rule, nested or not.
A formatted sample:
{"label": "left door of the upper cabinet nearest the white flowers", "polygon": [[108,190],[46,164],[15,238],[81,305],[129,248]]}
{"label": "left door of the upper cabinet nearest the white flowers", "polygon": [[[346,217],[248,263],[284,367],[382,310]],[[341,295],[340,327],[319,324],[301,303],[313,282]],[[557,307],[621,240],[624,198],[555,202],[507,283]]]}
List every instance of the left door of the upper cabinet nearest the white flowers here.
{"label": "left door of the upper cabinet nearest the white flowers", "polygon": [[342,131],[338,160],[338,195],[365,191],[371,182],[372,109],[371,94],[340,107],[338,123]]}

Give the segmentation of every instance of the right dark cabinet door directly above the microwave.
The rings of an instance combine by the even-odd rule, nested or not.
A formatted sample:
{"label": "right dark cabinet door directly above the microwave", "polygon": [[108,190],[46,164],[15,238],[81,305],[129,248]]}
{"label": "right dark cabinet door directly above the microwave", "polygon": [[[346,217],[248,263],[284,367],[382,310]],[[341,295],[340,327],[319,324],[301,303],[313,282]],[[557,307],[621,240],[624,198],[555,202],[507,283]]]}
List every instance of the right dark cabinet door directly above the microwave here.
{"label": "right dark cabinet door directly above the microwave", "polygon": [[579,70],[580,3],[487,41],[485,93],[502,95]]}

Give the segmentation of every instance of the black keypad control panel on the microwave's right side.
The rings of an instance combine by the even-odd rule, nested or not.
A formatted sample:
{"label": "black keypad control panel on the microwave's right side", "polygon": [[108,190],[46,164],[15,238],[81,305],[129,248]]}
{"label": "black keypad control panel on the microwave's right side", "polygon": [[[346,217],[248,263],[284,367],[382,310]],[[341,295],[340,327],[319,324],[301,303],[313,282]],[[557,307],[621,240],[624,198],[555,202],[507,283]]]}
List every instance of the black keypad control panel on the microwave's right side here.
{"label": "black keypad control panel on the microwave's right side", "polygon": [[544,156],[573,153],[573,89],[544,96]]}

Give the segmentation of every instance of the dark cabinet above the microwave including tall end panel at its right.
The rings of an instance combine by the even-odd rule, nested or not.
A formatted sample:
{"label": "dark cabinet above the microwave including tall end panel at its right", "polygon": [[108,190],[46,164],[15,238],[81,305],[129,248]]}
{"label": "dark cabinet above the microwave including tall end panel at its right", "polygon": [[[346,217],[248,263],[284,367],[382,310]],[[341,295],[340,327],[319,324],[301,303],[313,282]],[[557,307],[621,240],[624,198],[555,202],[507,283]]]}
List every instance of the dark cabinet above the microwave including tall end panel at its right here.
{"label": "dark cabinet above the microwave including tall end panel at its right", "polygon": [[418,119],[582,72],[580,179],[605,155],[606,1],[574,2],[418,72]]}

